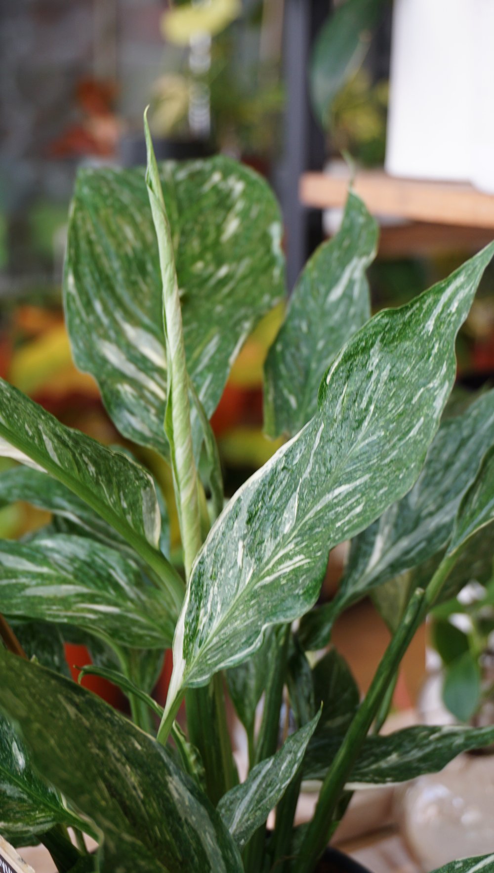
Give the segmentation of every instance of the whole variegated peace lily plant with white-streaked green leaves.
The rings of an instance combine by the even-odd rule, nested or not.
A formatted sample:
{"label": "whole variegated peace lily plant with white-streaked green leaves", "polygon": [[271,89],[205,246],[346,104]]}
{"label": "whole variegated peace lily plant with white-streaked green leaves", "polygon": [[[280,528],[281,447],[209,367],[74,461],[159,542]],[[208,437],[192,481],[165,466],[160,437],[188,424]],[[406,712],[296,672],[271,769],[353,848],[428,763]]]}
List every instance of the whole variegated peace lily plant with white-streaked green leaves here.
{"label": "whole variegated peace lily plant with white-streaked green leaves", "polygon": [[[492,574],[494,391],[461,414],[449,394],[456,333],[494,246],[371,319],[377,228],[351,193],[265,363],[265,430],[286,441],[225,502],[209,417],[245,338],[285,294],[281,236],[270,190],[226,157],[158,166],[148,135],[146,175],[79,175],[65,265],[74,359],[120,433],[169,464],[182,566],[148,471],[0,383],[1,450],[19,462],[0,500],[51,512],[0,543],[0,834],[43,842],[59,873],[311,873],[355,786],[494,742],[494,726],[380,733],[428,610]],[[344,540],[339,594],[318,606]],[[327,645],[367,595],[393,635],[360,700]],[[64,641],[88,645],[89,669],[120,686],[132,719],[65,675]],[[162,711],[150,691],[172,645]],[[242,783],[228,698],[248,739]],[[319,802],[296,826],[307,780]],[[444,870],[494,870],[494,856]]]}

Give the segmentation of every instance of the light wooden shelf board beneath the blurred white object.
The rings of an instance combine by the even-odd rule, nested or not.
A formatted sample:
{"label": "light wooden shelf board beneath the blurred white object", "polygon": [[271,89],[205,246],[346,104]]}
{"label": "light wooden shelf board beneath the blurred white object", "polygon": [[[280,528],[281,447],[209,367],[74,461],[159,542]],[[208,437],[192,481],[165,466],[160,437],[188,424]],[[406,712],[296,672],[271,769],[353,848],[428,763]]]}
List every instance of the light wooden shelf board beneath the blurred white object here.
{"label": "light wooden shelf board beneath the blurred white object", "polygon": [[[349,182],[349,174],[305,173],[300,199],[316,209],[343,206]],[[468,184],[397,179],[383,170],[367,170],[355,175],[353,189],[374,215],[494,230],[494,196]]]}

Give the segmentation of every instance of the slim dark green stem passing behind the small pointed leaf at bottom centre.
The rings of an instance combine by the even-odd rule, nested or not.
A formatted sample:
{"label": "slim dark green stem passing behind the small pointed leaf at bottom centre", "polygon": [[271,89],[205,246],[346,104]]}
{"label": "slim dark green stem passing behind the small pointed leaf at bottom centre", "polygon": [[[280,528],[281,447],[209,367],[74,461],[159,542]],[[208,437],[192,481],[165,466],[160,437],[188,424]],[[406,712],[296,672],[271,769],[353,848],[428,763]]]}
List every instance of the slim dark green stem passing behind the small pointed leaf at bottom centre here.
{"label": "slim dark green stem passing behind the small pointed leaf at bottom centre", "polygon": [[[270,758],[278,746],[279,712],[283,702],[285,686],[286,658],[290,642],[290,625],[284,624],[276,630],[277,651],[273,654],[271,670],[264,693],[264,713],[261,730],[257,739],[254,763],[259,764],[265,758]],[[250,837],[244,849],[244,868],[246,873],[258,873],[263,869],[265,828],[258,828]]]}

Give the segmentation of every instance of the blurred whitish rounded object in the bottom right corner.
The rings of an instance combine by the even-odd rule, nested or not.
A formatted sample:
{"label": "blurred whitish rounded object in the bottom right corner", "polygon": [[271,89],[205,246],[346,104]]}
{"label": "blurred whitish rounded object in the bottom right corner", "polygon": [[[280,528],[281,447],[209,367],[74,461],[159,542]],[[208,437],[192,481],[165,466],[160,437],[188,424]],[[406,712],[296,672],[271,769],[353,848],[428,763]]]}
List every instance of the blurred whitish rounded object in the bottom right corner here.
{"label": "blurred whitish rounded object in the bottom right corner", "polygon": [[401,834],[424,873],[494,851],[494,756],[462,755],[399,801]]}

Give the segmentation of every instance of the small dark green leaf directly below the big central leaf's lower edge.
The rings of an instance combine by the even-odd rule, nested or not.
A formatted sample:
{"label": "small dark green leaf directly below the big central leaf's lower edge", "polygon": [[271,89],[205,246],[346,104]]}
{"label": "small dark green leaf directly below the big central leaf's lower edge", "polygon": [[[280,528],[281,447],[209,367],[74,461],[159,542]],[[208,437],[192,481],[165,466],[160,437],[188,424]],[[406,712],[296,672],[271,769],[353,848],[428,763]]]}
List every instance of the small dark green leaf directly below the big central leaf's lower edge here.
{"label": "small dark green leaf directly below the big central leaf's lower edge", "polygon": [[257,704],[266,686],[267,665],[271,663],[273,651],[272,643],[274,643],[273,635],[269,629],[260,648],[244,663],[226,672],[231,702],[248,734],[254,729]]}

